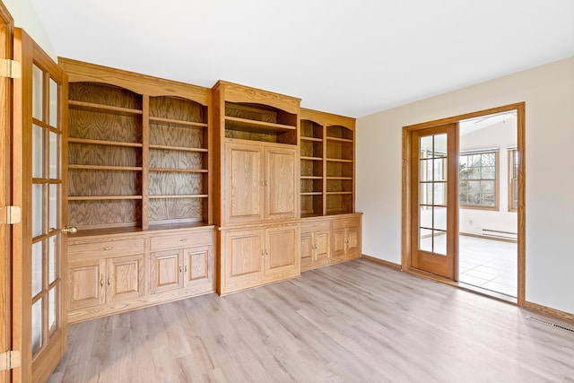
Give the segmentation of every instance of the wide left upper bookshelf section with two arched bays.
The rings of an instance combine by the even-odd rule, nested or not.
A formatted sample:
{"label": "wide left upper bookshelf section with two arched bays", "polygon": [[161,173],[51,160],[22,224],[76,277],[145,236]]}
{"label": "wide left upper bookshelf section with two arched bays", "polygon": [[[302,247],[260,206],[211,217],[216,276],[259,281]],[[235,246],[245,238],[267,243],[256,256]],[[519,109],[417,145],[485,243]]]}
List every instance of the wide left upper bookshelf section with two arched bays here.
{"label": "wide left upper bookshelf section with two arched bays", "polygon": [[84,235],[210,224],[210,91],[74,60],[60,64],[70,76],[69,223]]}

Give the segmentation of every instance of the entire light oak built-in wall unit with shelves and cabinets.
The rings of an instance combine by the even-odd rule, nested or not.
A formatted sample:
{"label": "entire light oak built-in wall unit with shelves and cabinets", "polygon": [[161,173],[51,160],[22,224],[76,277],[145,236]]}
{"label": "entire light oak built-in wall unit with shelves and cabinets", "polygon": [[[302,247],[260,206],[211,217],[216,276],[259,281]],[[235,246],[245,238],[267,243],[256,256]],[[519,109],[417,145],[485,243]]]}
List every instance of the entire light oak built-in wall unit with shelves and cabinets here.
{"label": "entire light oak built-in wall unit with shelves and cabinets", "polygon": [[69,322],[361,257],[353,118],[235,83],[60,65],[68,222],[79,230],[68,239]]}

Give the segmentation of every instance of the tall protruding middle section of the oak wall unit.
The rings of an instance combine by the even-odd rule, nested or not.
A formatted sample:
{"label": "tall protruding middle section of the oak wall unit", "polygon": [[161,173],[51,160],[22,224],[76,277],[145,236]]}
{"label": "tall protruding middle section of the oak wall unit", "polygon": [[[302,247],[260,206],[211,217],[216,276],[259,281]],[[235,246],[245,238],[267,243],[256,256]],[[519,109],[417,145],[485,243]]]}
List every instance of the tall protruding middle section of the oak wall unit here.
{"label": "tall protruding middle section of the oak wall unit", "polygon": [[220,294],[300,274],[299,114],[293,97],[213,86]]}

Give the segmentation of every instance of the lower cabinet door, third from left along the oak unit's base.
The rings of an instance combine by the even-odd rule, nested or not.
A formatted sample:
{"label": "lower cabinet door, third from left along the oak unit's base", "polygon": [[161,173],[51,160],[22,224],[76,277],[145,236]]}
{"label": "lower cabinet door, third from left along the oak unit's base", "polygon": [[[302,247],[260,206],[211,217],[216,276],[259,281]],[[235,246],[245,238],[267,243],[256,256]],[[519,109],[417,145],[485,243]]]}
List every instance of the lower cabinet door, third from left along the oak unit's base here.
{"label": "lower cabinet door, third from left along the oak unit's base", "polygon": [[183,250],[159,251],[150,255],[150,292],[169,292],[183,287]]}

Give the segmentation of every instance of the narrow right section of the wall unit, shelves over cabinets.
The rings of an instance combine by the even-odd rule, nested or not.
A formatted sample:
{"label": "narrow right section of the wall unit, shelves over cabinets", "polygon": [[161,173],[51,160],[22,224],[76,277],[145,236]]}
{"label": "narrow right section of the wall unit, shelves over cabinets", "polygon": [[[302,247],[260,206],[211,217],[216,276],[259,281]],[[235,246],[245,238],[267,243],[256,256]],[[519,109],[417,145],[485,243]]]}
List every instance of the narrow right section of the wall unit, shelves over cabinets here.
{"label": "narrow right section of the wall unit, shelves over cabinets", "polygon": [[301,270],[361,257],[354,213],[355,119],[300,112]]}

